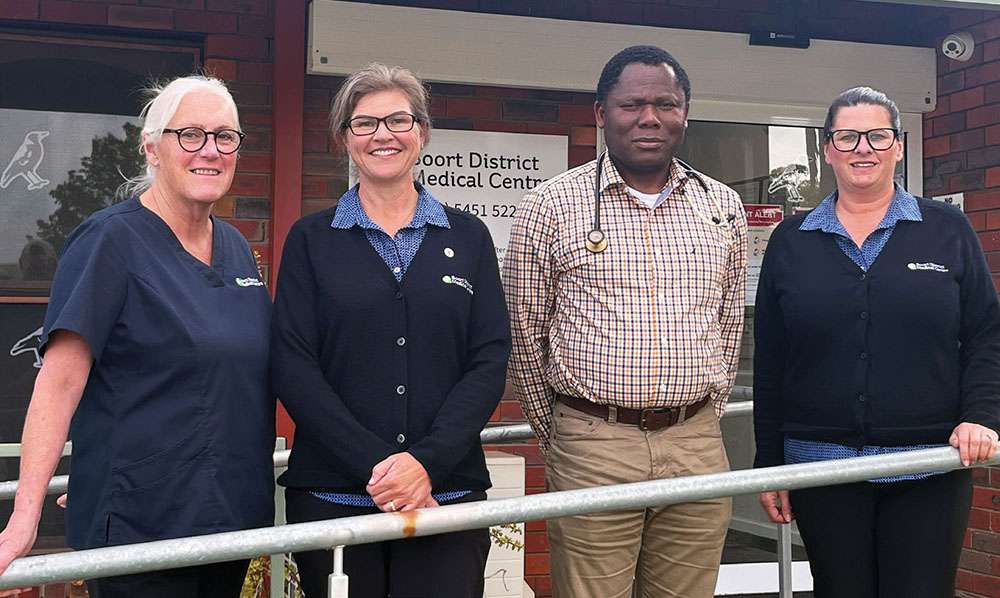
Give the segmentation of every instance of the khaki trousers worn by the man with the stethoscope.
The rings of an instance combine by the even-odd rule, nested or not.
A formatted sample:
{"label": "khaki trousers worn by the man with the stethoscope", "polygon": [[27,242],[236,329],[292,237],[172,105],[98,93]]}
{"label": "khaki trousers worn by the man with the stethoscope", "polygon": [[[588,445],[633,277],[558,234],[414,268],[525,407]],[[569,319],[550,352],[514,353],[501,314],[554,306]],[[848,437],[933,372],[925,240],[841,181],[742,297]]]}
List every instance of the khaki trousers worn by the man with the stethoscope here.
{"label": "khaki trousers worn by the man with the stethoscope", "polygon": [[[729,471],[711,405],[655,432],[556,402],[549,491]],[[563,517],[548,522],[554,598],[711,598],[732,499]]]}

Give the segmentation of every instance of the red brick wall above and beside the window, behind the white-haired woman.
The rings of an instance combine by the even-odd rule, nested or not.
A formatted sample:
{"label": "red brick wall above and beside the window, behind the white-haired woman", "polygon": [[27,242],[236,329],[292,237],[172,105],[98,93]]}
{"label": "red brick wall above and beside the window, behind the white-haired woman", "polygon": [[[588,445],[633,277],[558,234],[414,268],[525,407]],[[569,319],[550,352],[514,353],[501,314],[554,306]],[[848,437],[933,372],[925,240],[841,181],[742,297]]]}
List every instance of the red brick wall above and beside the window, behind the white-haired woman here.
{"label": "red brick wall above and beside the window, behind the white-haired woman", "polygon": [[[203,38],[208,74],[229,82],[240,107],[246,141],[237,175],[215,213],[231,222],[265,261],[271,195],[271,42],[273,0],[0,0],[0,19],[18,23],[102,26],[102,33],[142,39],[155,31],[160,40],[171,32]],[[169,42],[167,42],[169,43]]]}

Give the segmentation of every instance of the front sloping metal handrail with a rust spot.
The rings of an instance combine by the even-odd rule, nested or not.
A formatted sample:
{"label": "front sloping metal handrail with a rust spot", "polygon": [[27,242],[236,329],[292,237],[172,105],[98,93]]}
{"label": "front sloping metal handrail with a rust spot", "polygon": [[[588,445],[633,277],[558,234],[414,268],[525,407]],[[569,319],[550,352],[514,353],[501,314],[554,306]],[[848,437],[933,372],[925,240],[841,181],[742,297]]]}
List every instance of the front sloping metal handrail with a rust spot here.
{"label": "front sloping metal handrail with a rust spot", "polygon": [[[1000,455],[988,464],[1000,464]],[[95,548],[16,560],[0,575],[0,589],[961,467],[957,449],[940,447]]]}

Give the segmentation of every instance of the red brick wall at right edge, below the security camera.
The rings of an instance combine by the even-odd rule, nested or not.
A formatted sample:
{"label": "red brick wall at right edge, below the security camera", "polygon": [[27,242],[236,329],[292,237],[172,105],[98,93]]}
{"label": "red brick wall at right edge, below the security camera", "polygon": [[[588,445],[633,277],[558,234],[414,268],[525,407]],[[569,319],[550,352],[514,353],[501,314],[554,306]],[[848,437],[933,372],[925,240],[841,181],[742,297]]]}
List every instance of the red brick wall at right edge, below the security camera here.
{"label": "red brick wall at right edge, below the security camera", "polygon": [[[938,105],[924,116],[924,193],[963,192],[1000,288],[1000,12],[963,11],[950,31],[976,42],[968,62],[938,56]],[[1000,468],[975,472],[958,596],[1000,596]]]}

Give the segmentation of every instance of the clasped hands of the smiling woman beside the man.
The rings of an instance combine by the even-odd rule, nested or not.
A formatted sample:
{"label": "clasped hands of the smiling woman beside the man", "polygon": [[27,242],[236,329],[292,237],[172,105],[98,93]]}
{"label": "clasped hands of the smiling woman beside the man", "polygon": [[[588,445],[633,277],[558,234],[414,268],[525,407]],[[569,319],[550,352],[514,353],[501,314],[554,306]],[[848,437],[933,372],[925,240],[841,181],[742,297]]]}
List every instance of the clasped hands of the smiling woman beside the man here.
{"label": "clasped hands of the smiling woman beside the man", "polygon": [[438,506],[427,470],[410,453],[396,453],[377,463],[365,490],[386,513]]}

